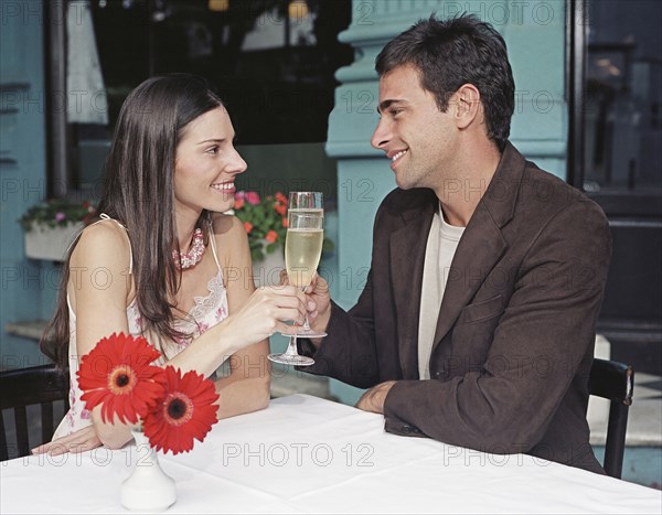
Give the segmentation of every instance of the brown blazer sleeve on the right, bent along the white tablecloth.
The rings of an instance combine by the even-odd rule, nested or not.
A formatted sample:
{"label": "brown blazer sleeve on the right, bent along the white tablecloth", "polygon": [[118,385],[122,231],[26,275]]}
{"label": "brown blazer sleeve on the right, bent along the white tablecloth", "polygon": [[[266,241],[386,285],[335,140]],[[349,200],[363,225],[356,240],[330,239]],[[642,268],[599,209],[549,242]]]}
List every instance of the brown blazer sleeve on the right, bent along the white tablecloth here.
{"label": "brown blazer sleeve on the right, bent along the white tablecloth", "polygon": [[610,254],[597,205],[578,202],[557,213],[516,270],[482,368],[397,382],[384,406],[386,430],[487,452],[531,449],[590,352]]}

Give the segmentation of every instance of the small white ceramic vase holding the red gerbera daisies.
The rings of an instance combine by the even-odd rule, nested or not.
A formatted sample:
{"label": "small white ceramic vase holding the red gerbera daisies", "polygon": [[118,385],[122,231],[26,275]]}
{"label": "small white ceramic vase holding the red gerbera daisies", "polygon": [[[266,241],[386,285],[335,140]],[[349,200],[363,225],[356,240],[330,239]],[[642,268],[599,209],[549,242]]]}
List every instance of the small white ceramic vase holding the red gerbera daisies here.
{"label": "small white ceramic vase holding the red gerbera daisies", "polygon": [[159,464],[159,455],[142,431],[131,431],[136,440],[134,473],[121,484],[120,501],[131,512],[163,512],[177,501],[172,478]]}

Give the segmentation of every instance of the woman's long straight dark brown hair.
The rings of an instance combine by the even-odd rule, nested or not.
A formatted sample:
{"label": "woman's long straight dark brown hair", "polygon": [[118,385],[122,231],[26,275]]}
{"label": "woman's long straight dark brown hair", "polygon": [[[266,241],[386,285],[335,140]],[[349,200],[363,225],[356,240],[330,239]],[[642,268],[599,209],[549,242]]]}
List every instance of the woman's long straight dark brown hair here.
{"label": "woman's long straight dark brown hair", "polygon": [[[127,228],[143,333],[169,340],[182,336],[173,328],[174,305],[169,300],[181,280],[171,258],[178,245],[173,187],[177,146],[192,120],[222,106],[201,77],[169,74],[140,84],[121,107],[98,212]],[[201,218],[207,216],[203,211]],[[209,238],[207,224],[199,222]],[[55,313],[40,342],[42,352],[62,368],[68,367],[66,287],[74,247],[63,267]]]}

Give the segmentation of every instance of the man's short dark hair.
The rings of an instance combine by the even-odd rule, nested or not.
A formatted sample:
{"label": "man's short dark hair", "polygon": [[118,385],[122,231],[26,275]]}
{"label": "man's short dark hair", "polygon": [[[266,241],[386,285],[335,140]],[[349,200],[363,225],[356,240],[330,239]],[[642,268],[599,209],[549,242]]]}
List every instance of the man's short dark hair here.
{"label": "man's short dark hair", "polygon": [[440,21],[433,14],[419,20],[380,52],[375,69],[380,76],[414,65],[423,88],[435,95],[441,111],[463,84],[480,92],[488,138],[503,151],[515,106],[515,83],[505,41],[489,23],[473,14]]}

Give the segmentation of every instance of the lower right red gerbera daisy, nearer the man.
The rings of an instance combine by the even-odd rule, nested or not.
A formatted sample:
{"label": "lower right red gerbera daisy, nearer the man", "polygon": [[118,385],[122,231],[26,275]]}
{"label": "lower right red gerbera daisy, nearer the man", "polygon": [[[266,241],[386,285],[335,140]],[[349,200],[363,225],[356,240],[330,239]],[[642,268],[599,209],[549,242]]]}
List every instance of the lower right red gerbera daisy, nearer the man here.
{"label": "lower right red gerbera daisy, nearer the man", "polygon": [[195,371],[182,376],[179,368],[167,366],[164,397],[145,417],[145,434],[157,451],[189,452],[193,439],[202,441],[216,423],[217,398],[213,382]]}

